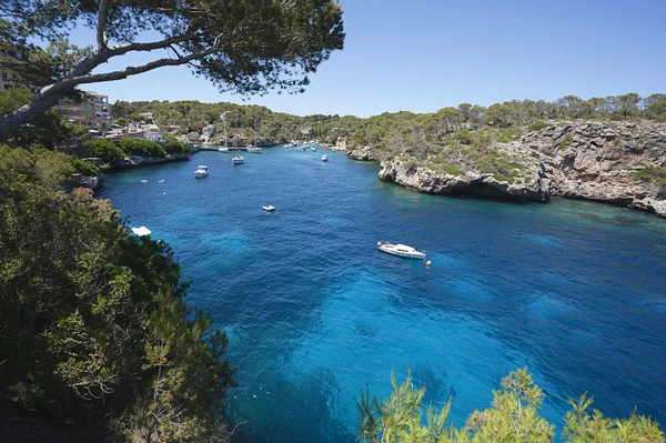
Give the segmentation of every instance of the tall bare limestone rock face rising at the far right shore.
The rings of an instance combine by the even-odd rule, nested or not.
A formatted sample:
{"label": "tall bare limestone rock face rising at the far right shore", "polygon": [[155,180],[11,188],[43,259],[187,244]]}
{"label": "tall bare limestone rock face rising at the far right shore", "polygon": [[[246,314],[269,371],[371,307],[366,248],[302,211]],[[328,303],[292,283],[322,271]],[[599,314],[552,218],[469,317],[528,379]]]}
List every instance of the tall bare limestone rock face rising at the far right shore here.
{"label": "tall bare limestone rock face rising at the far right shore", "polygon": [[597,200],[666,217],[664,190],[628,177],[645,164],[666,165],[666,124],[558,124],[514,143],[543,164],[552,195]]}

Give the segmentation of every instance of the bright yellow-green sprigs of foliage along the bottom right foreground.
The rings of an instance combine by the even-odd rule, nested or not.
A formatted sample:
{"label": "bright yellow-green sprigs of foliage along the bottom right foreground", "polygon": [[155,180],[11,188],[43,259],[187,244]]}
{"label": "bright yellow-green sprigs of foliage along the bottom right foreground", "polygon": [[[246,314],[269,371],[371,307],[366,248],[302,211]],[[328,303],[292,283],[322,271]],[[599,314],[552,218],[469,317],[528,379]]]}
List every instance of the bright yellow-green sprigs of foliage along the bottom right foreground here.
{"label": "bright yellow-green sprigs of foliage along the bottom right foreground", "polygon": [[[549,443],[555,426],[538,415],[544,393],[527,369],[502,379],[502,389],[493,391],[492,407],[474,411],[465,424],[447,423],[451,400],[437,411],[423,405],[425,386],[415,389],[411,374],[398,385],[391,373],[393,391],[382,403],[361,391],[356,406],[361,414],[357,440],[380,443]],[[629,419],[610,420],[594,410],[593,399],[583,394],[564,420],[562,436],[567,443],[664,443],[664,433],[648,417],[633,414]],[[425,419],[425,420],[424,420]]]}

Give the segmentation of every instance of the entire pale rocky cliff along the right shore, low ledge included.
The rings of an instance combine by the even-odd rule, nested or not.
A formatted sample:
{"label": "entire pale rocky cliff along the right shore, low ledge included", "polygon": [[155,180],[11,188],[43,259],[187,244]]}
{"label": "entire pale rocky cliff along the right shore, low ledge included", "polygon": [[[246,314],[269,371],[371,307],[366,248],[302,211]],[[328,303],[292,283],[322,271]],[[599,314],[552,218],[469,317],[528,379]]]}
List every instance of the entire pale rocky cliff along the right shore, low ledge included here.
{"label": "entire pale rocky cliff along the right shore, low ledge included", "polygon": [[[481,168],[442,172],[408,160],[384,160],[380,179],[432,194],[545,202],[551,197],[596,200],[666,217],[666,124],[655,122],[557,123],[493,149],[522,169],[497,178]],[[372,160],[369,150],[350,152]],[[423,163],[423,162],[422,162]]]}

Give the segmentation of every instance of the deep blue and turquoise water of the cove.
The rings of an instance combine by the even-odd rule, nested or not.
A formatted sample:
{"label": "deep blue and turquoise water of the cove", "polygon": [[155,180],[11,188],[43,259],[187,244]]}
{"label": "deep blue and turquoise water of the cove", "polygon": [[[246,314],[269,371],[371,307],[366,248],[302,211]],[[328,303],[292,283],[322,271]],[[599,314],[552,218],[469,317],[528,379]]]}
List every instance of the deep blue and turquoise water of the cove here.
{"label": "deep blue and turquoise water of the cove", "polygon": [[[190,300],[226,330],[239,441],[350,442],[354,399],[387,394],[392,368],[411,368],[428,402],[453,396],[456,424],[525,365],[558,426],[586,391],[606,414],[637,406],[666,424],[666,220],[422,195],[326,153],[264,149],[232,167],[200,152],[113,174],[101,192],[171,243]],[[200,163],[208,179],[194,179]]]}

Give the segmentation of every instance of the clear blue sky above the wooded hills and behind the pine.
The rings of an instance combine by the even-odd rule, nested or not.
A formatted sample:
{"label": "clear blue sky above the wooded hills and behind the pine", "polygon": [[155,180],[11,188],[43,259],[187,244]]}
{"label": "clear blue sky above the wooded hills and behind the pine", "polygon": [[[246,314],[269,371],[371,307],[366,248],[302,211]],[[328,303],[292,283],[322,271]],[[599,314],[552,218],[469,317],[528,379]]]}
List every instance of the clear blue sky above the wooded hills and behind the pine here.
{"label": "clear blue sky above the wooded hills and behind the pine", "polygon": [[[345,49],[304,94],[252,98],[299,115],[433,112],[566,94],[666,92],[664,0],[342,0]],[[75,43],[90,44],[77,30]],[[103,69],[137,66],[125,56]],[[91,88],[115,100],[242,103],[186,68],[161,68]]]}

